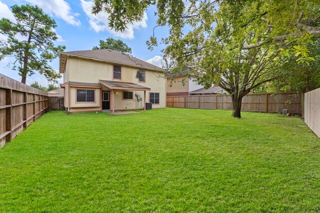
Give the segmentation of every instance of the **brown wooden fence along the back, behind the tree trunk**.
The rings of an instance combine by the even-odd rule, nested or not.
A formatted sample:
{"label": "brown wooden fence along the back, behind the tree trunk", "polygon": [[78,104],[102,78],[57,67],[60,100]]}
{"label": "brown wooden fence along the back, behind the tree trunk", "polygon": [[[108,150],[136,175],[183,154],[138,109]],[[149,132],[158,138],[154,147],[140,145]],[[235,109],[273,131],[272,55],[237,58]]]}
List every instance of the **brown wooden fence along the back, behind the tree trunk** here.
{"label": "brown wooden fence along the back, behind the tree trunk", "polygon": [[[192,109],[232,110],[232,99],[228,95],[167,96],[166,107]],[[250,112],[282,112],[288,109],[301,114],[301,95],[296,93],[247,94],[242,98],[241,110]]]}

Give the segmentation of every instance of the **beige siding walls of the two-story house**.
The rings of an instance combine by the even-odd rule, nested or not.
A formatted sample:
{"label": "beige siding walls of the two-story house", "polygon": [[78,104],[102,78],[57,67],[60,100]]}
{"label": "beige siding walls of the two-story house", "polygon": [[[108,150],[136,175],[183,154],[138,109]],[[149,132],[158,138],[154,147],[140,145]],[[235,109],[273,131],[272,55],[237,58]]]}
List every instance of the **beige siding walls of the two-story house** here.
{"label": "beige siding walls of the two-story house", "polygon": [[[66,72],[67,72],[67,81],[74,82],[83,82],[83,83],[99,83],[99,80],[116,80],[112,79],[112,69],[113,65],[105,62],[86,60],[81,58],[69,57],[67,60]],[[120,82],[131,82],[139,84],[144,87],[150,88],[150,91],[146,91],[145,101],[149,102],[149,92],[159,92],[159,102],[160,104],[153,105],[152,108],[164,108],[166,103],[166,79],[162,72],[145,70],[145,83],[138,82],[136,78],[138,68],[121,66],[122,79],[118,80]],[[100,95],[102,91],[110,91],[109,88],[102,86],[101,89],[96,89],[95,97],[96,103],[86,105],[86,103],[75,103],[75,87],[70,87],[70,93],[67,91],[67,95],[70,96],[70,106],[68,101],[66,101],[66,107],[70,107],[70,112],[75,111],[92,111],[92,110],[101,110],[101,98]],[[114,90],[114,109],[115,110],[124,110],[124,109],[142,109],[144,107],[144,91],[134,91],[133,100],[123,100],[123,90]],[[111,91],[110,91],[111,93]],[[137,101],[135,94],[138,94],[142,97],[141,101]],[[112,109],[112,94],[110,94],[110,109]],[[90,106],[90,107],[85,107]],[[99,106],[100,108],[95,108]],[[71,109],[76,107],[79,109]],[[80,108],[81,107],[81,108]],[[83,108],[82,108],[83,107]]]}

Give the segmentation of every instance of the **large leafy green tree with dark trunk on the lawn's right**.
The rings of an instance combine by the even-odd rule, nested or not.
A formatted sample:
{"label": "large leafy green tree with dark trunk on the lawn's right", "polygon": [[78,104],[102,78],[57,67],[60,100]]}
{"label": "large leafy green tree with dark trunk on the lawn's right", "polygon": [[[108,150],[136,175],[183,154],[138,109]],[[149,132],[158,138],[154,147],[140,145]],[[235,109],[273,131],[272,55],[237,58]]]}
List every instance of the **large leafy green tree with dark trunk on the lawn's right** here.
{"label": "large leafy green tree with dark trunk on the lawn's right", "polygon": [[[219,84],[240,118],[242,97],[265,82],[290,74],[283,65],[314,60],[308,54],[320,36],[318,0],[95,0],[93,13],[109,13],[109,26],[123,30],[156,4],[167,68],[187,70],[205,87]],[[154,30],[155,31],[155,30]],[[157,45],[153,34],[147,44]]]}

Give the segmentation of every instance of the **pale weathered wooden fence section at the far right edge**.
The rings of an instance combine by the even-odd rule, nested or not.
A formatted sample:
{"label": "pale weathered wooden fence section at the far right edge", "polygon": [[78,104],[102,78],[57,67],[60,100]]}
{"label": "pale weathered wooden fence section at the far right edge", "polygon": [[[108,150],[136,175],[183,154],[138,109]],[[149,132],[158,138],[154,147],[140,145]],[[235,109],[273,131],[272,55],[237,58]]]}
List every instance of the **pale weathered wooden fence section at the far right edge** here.
{"label": "pale weathered wooden fence section at the far right edge", "polygon": [[320,137],[320,88],[304,93],[304,122]]}

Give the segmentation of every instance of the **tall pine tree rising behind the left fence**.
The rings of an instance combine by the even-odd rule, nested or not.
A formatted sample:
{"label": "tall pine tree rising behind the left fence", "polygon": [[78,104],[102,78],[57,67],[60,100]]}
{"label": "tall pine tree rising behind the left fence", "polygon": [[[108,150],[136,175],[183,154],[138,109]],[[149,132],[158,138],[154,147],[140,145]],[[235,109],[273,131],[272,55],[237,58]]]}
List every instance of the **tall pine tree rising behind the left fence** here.
{"label": "tall pine tree rising behind the left fence", "polygon": [[35,71],[49,81],[57,82],[61,75],[48,63],[58,57],[65,46],[53,44],[57,39],[55,21],[38,6],[13,5],[11,9],[15,22],[0,19],[0,33],[7,36],[6,40],[0,41],[0,59],[14,57],[14,62],[8,66],[18,71],[22,83],[25,83],[27,75],[31,76]]}

